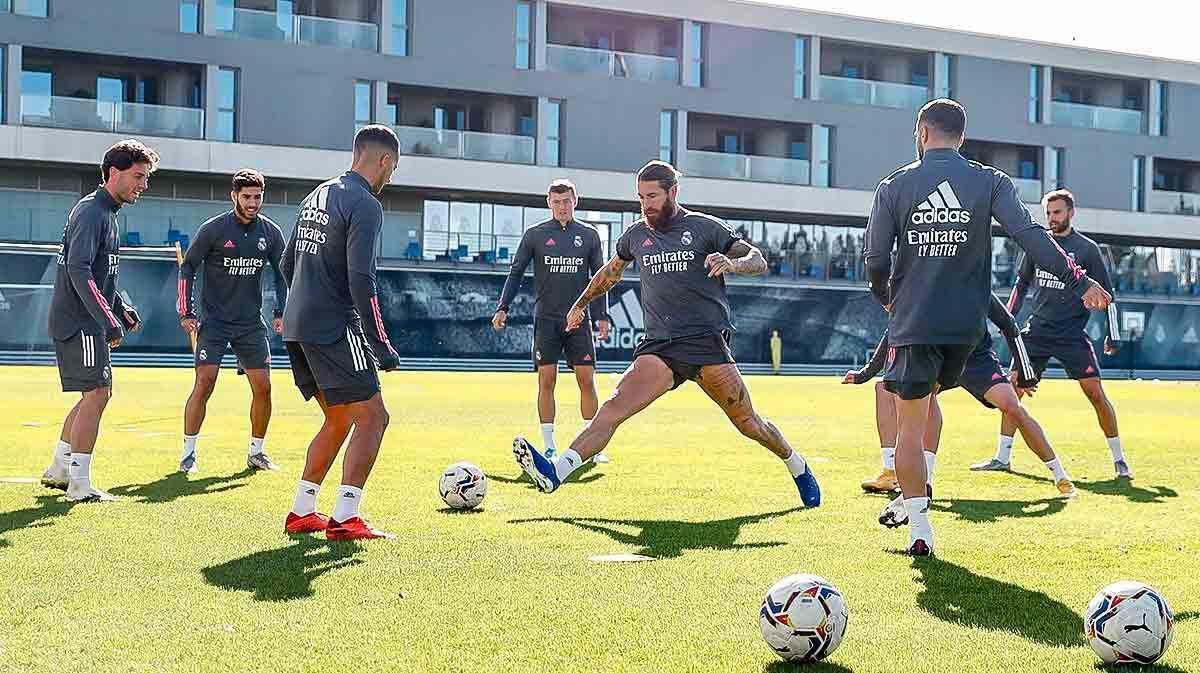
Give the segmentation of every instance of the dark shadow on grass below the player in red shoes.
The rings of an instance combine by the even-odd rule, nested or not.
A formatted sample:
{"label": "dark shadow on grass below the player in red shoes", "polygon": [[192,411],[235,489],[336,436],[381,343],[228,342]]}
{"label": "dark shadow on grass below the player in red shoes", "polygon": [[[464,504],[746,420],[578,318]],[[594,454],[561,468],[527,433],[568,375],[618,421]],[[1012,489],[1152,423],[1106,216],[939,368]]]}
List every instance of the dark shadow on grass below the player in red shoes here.
{"label": "dark shadow on grass below the player in red shoes", "polygon": [[313,595],[322,575],[362,563],[353,558],[361,547],[354,541],[298,536],[277,549],[254,552],[200,570],[204,581],[230,591],[251,591],[256,601],[290,601]]}

